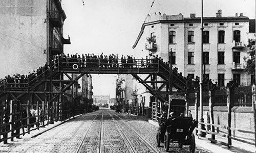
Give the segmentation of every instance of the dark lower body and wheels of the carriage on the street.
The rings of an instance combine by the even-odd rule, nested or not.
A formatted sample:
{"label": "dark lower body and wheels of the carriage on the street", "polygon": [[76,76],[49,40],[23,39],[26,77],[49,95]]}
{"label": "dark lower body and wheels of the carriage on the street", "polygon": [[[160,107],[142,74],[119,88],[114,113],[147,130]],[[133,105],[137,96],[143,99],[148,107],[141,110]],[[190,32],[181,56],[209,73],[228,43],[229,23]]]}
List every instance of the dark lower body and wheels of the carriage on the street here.
{"label": "dark lower body and wheels of the carriage on the street", "polygon": [[196,142],[193,131],[198,124],[198,121],[192,117],[173,116],[166,118],[162,116],[158,119],[159,129],[156,135],[157,146],[161,142],[164,144],[166,151],[169,150],[169,143],[178,143],[179,148],[183,145],[189,145],[189,151],[195,152]]}

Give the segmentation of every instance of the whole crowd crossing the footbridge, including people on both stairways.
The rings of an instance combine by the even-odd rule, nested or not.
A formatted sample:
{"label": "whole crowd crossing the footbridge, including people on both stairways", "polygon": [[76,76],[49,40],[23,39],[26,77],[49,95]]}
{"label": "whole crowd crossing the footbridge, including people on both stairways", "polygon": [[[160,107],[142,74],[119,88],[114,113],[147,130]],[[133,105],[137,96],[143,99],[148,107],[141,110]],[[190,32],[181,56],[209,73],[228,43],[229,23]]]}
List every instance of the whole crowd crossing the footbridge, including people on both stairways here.
{"label": "whole crowd crossing the footbridge, including people on both stairways", "polygon": [[[58,64],[61,66],[73,66],[77,64],[80,67],[108,67],[108,68],[152,68],[156,67],[157,64],[161,64],[165,67],[165,69],[169,70],[170,62],[164,62],[162,58],[158,57],[158,55],[148,55],[144,59],[135,59],[131,56],[121,56],[116,54],[110,54],[109,56],[101,53],[100,55],[94,54],[82,54],[81,56],[78,54],[60,54],[52,57],[51,64],[53,68],[57,68]],[[50,65],[45,64],[45,66],[39,67],[36,71],[29,72],[28,74],[14,74],[7,75],[4,79],[0,79],[0,88],[4,83],[7,83],[9,87],[26,87],[27,84],[33,80],[38,80],[38,76],[42,73],[46,72],[47,69],[50,68]],[[184,77],[181,72],[178,72],[178,68],[173,68],[174,75],[183,82],[199,82],[199,77],[192,78],[191,76]],[[205,81],[210,81],[208,78]],[[210,81],[211,82],[211,81]]]}

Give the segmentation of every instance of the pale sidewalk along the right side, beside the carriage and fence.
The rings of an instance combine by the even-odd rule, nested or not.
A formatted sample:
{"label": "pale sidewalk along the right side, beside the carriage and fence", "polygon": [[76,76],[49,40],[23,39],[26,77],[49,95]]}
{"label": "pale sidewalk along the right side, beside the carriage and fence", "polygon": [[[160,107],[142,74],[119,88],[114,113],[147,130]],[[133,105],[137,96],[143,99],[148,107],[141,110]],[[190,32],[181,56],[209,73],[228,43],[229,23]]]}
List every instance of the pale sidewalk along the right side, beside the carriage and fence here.
{"label": "pale sidewalk along the right side, beside the carriage and fence", "polygon": [[[150,119],[148,120],[148,122],[158,127],[158,122],[150,120]],[[210,135],[208,135],[207,137],[210,137]],[[256,152],[254,145],[250,145],[247,143],[232,140],[231,148],[227,149],[227,146],[225,146],[225,145],[210,143],[210,141],[207,140],[207,137],[204,139],[196,137],[196,145],[201,146],[203,148],[206,148],[206,149],[208,149],[212,152],[216,152],[216,153],[219,153],[219,152],[230,152],[230,153],[231,152],[243,152],[243,153],[252,153],[253,152],[254,153],[254,152]],[[227,139],[224,137],[216,136],[216,140],[227,142]]]}

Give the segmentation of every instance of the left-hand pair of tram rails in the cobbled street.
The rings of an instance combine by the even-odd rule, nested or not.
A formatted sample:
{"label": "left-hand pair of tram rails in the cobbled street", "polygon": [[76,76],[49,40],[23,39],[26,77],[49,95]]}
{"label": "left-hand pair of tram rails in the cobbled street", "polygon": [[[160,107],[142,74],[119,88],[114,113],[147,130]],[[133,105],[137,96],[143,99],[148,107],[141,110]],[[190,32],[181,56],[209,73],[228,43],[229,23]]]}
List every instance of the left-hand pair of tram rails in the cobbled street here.
{"label": "left-hand pair of tram rails in the cobbled street", "polygon": [[[78,152],[83,152],[82,151],[82,146],[83,146],[83,143],[84,143],[84,140],[86,140],[86,138],[88,137],[88,133],[89,131],[91,130],[91,127],[93,125],[93,123],[95,122],[96,118],[98,117],[98,115],[100,114],[100,112],[94,117],[94,119],[92,120],[90,126],[88,127],[86,133],[84,133],[83,137],[82,137],[82,140],[78,146],[78,148],[76,149],[75,153],[78,153]],[[102,122],[103,122],[103,111],[102,111],[102,115],[101,115],[101,123],[100,123],[100,133],[99,133],[99,145],[98,145],[98,153],[101,153],[102,152]]]}

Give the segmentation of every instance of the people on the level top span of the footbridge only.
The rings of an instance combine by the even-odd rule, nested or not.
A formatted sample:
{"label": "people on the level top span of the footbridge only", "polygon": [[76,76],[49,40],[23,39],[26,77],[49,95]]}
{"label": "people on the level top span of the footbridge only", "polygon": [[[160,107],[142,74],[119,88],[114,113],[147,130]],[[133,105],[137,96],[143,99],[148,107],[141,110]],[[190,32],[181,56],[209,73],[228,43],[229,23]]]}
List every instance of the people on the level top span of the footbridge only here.
{"label": "people on the level top span of the footbridge only", "polygon": [[70,55],[70,54],[61,54],[56,55],[53,58],[54,65],[58,63],[61,66],[72,66],[73,64],[77,64],[80,67],[128,67],[128,68],[138,68],[138,67],[154,67],[157,64],[158,60],[163,61],[163,59],[159,58],[158,55],[146,56],[145,59],[135,59],[133,55],[129,56],[121,56],[118,57],[118,54],[110,54],[103,55],[94,55],[94,54],[82,54],[81,56],[78,54]]}

